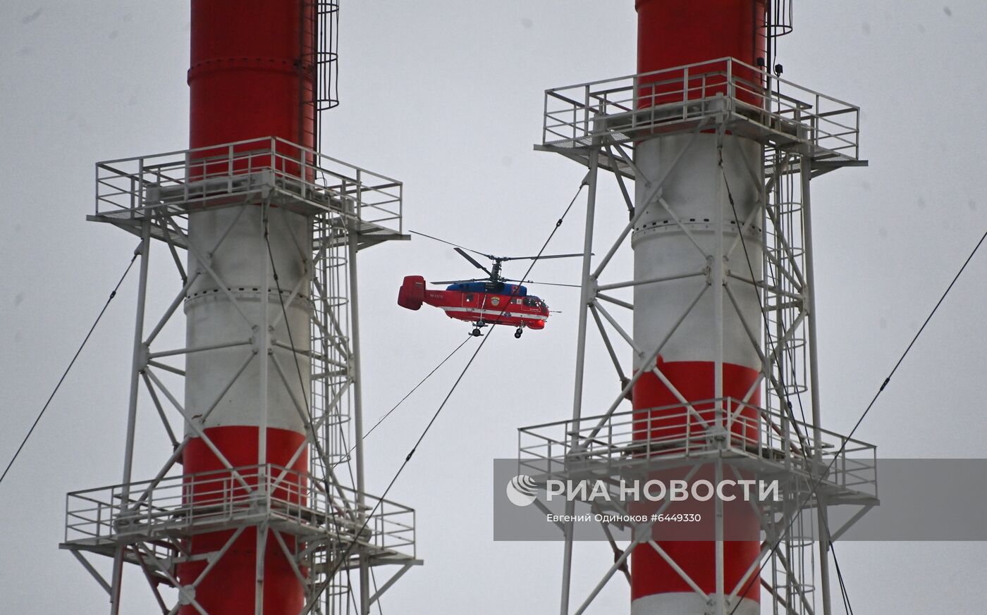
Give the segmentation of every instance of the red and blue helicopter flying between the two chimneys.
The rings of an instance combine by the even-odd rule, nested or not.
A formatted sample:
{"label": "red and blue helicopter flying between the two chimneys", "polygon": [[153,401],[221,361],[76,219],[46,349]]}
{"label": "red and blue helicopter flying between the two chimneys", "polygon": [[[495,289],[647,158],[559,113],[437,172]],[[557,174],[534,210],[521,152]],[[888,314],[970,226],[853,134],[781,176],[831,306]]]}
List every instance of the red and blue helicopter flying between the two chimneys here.
{"label": "red and blue helicopter flying between the two chimneys", "polygon": [[[413,232],[414,233],[414,232]],[[447,280],[431,284],[447,284],[445,290],[428,289],[422,276],[405,276],[398,291],[398,305],[402,308],[419,309],[427,304],[445,311],[445,315],[473,324],[472,334],[483,335],[481,329],[488,325],[503,324],[517,327],[514,337],[521,337],[524,329],[544,329],[552,311],[539,297],[528,294],[524,284],[550,284],[531,280],[504,278],[500,271],[504,262],[511,260],[542,260],[545,258],[569,258],[582,256],[575,254],[549,254],[540,256],[494,256],[470,248],[464,248],[444,239],[416,233],[428,239],[435,239],[454,246],[456,253],[468,260],[474,267],[483,270],[487,278],[472,280]],[[489,258],[490,267],[484,266],[468,252]],[[551,286],[572,286],[573,284],[551,284]]]}

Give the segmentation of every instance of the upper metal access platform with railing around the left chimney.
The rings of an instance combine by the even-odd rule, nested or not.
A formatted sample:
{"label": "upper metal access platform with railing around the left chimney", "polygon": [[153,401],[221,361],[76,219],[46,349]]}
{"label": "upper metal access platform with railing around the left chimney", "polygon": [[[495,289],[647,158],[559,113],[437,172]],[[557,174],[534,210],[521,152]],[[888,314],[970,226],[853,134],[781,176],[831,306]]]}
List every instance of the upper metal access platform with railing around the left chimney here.
{"label": "upper metal access platform with railing around the left chimney", "polygon": [[[403,227],[403,184],[277,137],[123,158],[96,165],[96,213],[106,222],[177,247],[188,215],[204,208],[269,203],[355,225],[360,247],[408,239]],[[175,219],[176,234],[165,219]]]}

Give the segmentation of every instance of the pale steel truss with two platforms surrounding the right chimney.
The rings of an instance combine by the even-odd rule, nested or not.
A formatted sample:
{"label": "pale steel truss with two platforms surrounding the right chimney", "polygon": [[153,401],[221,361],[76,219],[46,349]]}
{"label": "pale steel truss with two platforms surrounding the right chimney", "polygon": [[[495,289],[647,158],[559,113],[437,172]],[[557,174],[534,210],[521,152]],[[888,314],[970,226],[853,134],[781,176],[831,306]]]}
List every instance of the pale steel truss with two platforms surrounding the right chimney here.
{"label": "pale steel truss with two platforms surrounding the right chimney", "polygon": [[[757,75],[751,78],[751,75]],[[784,92],[784,94],[780,94]],[[707,594],[679,567],[660,545],[647,540],[647,531],[635,533],[630,544],[614,539],[615,529],[603,524],[614,551],[613,564],[601,580],[582,594],[570,608],[570,572],[573,557],[573,528],[561,523],[565,538],[561,613],[587,612],[603,586],[617,572],[628,581],[628,558],[645,542],[706,600],[710,615],[727,615],[736,604],[745,583],[760,577],[770,612],[774,614],[830,615],[828,542],[846,527],[828,527],[826,509],[831,506],[859,507],[857,520],[877,504],[875,448],[821,428],[816,368],[814,279],[809,180],[841,167],[866,166],[858,160],[859,109],[788,81],[723,58],[615,80],[591,82],[546,92],[543,142],[535,148],[562,154],[589,172],[581,277],[578,338],[572,419],[519,430],[519,473],[536,482],[549,478],[580,480],[610,476],[645,478],[661,467],[689,467],[714,463],[717,476],[729,477],[756,469],[781,478],[784,501],[757,510],[761,519],[762,548],[736,586],[723,580],[722,541],[717,549],[717,591]],[[694,239],[695,227],[680,220],[665,199],[663,183],[683,154],[700,147],[697,136],[717,135],[714,147],[720,160],[743,160],[742,166],[760,186],[755,207],[746,219],[737,219],[731,207],[730,178],[726,171],[720,182],[719,216],[711,225],[719,245],[708,253]],[[670,158],[661,176],[645,176],[635,164],[636,143],[655,135],[692,135],[677,156]],[[750,168],[747,157],[736,148],[743,136],[762,146],[763,168]],[[704,140],[709,144],[709,140]],[[704,145],[706,146],[706,145]],[[721,170],[727,167],[721,165]],[[617,209],[630,220],[616,238],[604,239],[601,249],[594,237],[597,215],[599,171],[611,171],[623,197]],[[733,178],[736,179],[735,177]],[[648,205],[657,205],[669,218],[669,228],[692,239],[695,266],[688,273],[648,280],[605,280],[611,261],[630,238],[645,207],[633,200],[630,182],[645,183]],[[640,187],[640,186],[639,186]],[[640,195],[640,192],[639,192]],[[727,240],[729,232],[734,239]],[[755,239],[755,240],[751,240]],[[763,244],[763,248],[761,245]],[[593,253],[602,257],[593,258]],[[683,278],[699,278],[706,284],[677,318],[662,341],[640,347],[626,325],[634,305],[621,292],[641,285],[661,285]],[[753,288],[758,296],[760,318],[745,317],[737,302],[739,289]],[[749,293],[749,290],[747,291]],[[707,294],[714,296],[716,322],[722,335],[723,309],[732,308],[761,361],[756,381],[742,398],[719,396],[689,400],[679,393],[655,366],[655,359],[685,318]],[[623,313],[622,313],[623,310]],[[586,415],[583,409],[584,357],[587,330],[595,329],[615,372],[613,402],[602,412]],[[626,348],[635,365],[655,366],[634,372],[622,357]],[[723,364],[722,343],[716,373]],[[643,425],[648,409],[620,411],[629,400],[635,382],[647,371],[656,376],[678,398],[678,405],[662,410],[662,418],[680,425],[701,425],[700,434],[656,435]],[[760,393],[763,405],[752,399]],[[718,384],[718,394],[721,388]],[[702,409],[697,409],[697,407]],[[750,411],[744,412],[741,411]],[[750,419],[754,416],[756,419]],[[670,418],[669,418],[670,417]],[[734,429],[742,424],[739,431]],[[649,439],[641,439],[641,434]],[[751,435],[751,436],[744,436]],[[828,468],[828,470],[827,470]],[[617,498],[613,499],[618,500]],[[599,502],[589,502],[594,512],[605,511]],[[663,506],[667,506],[665,502]],[[574,504],[566,511],[570,514]],[[607,504],[612,512],[627,513],[619,505]],[[658,513],[663,507],[658,509]],[[812,511],[814,522],[807,522]],[[718,505],[721,514],[721,504]],[[644,528],[645,529],[646,525]],[[820,528],[820,529],[816,529]],[[717,536],[722,536],[722,518]],[[818,587],[815,562],[819,562]],[[765,599],[762,598],[762,604]]]}

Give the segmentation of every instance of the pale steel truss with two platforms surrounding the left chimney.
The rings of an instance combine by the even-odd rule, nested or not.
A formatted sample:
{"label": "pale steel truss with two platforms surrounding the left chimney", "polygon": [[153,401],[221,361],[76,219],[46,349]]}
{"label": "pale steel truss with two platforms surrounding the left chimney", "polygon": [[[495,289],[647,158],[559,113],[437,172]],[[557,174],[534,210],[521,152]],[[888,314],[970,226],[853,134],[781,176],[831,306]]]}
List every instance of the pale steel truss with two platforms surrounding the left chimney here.
{"label": "pale steel truss with two platforms surrounding the left chimney", "polygon": [[[421,564],[416,558],[415,511],[367,495],[363,478],[356,253],[382,240],[407,239],[401,226],[401,190],[399,181],[273,138],[97,165],[97,213],[90,219],[141,238],[123,480],[68,495],[60,547],[107,590],[113,615],[121,612],[125,564],[140,569],[162,613],[171,615],[189,605],[208,615],[195,600],[195,587],[243,532],[257,532],[260,545],[256,615],[263,610],[266,552],[283,555],[304,587],[302,615],[365,615],[371,605],[378,606],[387,588]],[[312,246],[311,253],[299,250],[307,275],[295,288],[261,289],[268,297],[280,295],[281,311],[261,310],[264,315],[255,321],[240,307],[236,289],[210,266],[213,252],[236,220],[205,253],[196,250],[187,222],[190,212],[202,207],[239,208],[236,220],[249,207],[259,207],[265,225],[273,207],[309,219],[312,237],[293,238],[297,246]],[[152,245],[164,248],[180,282],[173,301],[153,320],[146,314]],[[181,250],[194,252],[197,269],[186,271]],[[269,273],[260,272],[257,279],[268,280]],[[162,331],[175,319],[192,284],[203,277],[241,316],[242,340],[160,348]],[[311,302],[314,309],[310,330],[293,332],[293,343],[274,331],[295,302]],[[297,340],[305,336],[311,343],[302,349]],[[238,372],[217,385],[214,402],[191,414],[180,401],[186,376],[181,361],[194,353],[237,346],[252,352]],[[235,467],[203,430],[223,396],[256,362],[262,364],[261,374],[278,378],[288,391],[301,377],[299,366],[311,366],[309,399],[291,396],[292,410],[304,425],[304,442],[285,466]],[[134,482],[139,411],[157,416],[173,452],[153,478]],[[268,412],[265,407],[263,414]],[[264,450],[266,430],[261,434]],[[193,438],[201,439],[223,470],[183,473],[182,453]],[[308,470],[290,469],[303,455]],[[222,548],[190,553],[190,536],[218,531],[232,532]],[[92,555],[113,561],[109,576],[88,559]],[[205,561],[198,578],[179,581],[177,566],[196,560]],[[385,574],[379,585],[377,570]],[[177,590],[177,597],[162,587]]]}

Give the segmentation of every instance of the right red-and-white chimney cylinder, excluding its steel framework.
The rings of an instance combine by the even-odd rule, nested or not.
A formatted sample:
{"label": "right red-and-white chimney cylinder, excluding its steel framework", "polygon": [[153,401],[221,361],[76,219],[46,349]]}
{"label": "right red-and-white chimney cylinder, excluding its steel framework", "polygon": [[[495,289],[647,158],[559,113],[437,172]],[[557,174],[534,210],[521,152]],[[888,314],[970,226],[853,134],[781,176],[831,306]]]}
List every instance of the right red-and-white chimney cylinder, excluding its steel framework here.
{"label": "right red-and-white chimney cylinder, excluding its steel framework", "polygon": [[[765,55],[763,21],[766,2],[637,0],[638,72],[669,69],[723,57],[733,57],[755,65],[757,58]],[[695,72],[700,73],[702,69]],[[756,74],[751,78],[760,79]],[[678,80],[675,96],[681,100],[684,74],[666,73],[661,79]],[[647,81],[643,78],[641,83],[646,84]],[[685,96],[698,99],[711,94],[715,93],[697,89]],[[660,96],[643,97],[641,104],[660,104],[660,99]],[[665,179],[660,193],[645,202],[651,196],[650,185],[645,178],[653,180],[663,176],[694,138],[695,141]],[[730,154],[723,155],[724,171],[729,177],[737,217],[743,221],[755,207],[760,191],[757,182],[763,172],[761,146],[755,141],[728,133],[723,140],[723,148]],[[637,180],[636,207],[646,209],[632,236],[635,280],[693,274],[703,269],[706,258],[703,252],[714,259],[718,255],[721,258],[737,240],[737,226],[733,224],[732,210],[723,191],[723,171],[715,131],[701,132],[695,137],[678,134],[646,138],[635,146],[635,163],[644,175]],[[667,213],[658,198],[674,212],[674,217]],[[681,225],[674,218],[678,218]],[[721,235],[717,233],[718,225],[723,229]],[[722,241],[723,245],[718,247],[718,241]],[[761,240],[745,236],[745,241],[748,242],[748,249],[755,254],[751,264],[755,274],[759,275]],[[707,265],[714,270],[715,278],[716,263],[709,258],[707,261]],[[745,261],[735,262],[733,266],[746,277]],[[690,277],[635,286],[634,341],[638,347],[657,347],[707,284],[707,279],[703,277]],[[641,411],[640,416],[650,416],[652,430],[654,425],[661,423],[654,421],[655,413],[645,412],[644,409],[680,404],[682,398],[690,402],[721,397],[743,398],[760,371],[757,351],[750,343],[737,311],[718,301],[717,294],[711,290],[703,295],[698,305],[675,329],[658,357],[656,365],[666,381],[645,373],[634,387],[634,408]],[[753,292],[739,296],[738,303],[746,321],[760,322],[760,308]],[[717,310],[721,310],[721,327],[717,324]],[[717,374],[718,357],[722,358],[720,374]],[[640,365],[640,361],[636,358],[635,370],[654,367]],[[758,402],[755,394],[750,403],[756,405]],[[702,411],[712,405],[695,404],[695,407]],[[681,415],[681,405],[674,412]],[[660,437],[668,438],[668,426],[663,425],[662,429]],[[684,425],[682,429],[684,432]],[[657,438],[659,435],[651,434],[651,437]],[[714,595],[723,592],[725,587],[728,594],[758,557],[760,548],[757,517],[750,515],[733,519],[731,532],[737,531],[738,522],[741,524],[740,534],[749,535],[749,539],[722,543],[721,586],[718,586],[716,541],[658,540],[657,544],[703,592]],[[631,578],[631,611],[634,615],[704,615],[716,612],[715,607],[647,543],[638,546],[632,555]],[[735,615],[757,615],[760,612],[760,587],[756,582],[748,587],[740,596],[740,605],[733,611]],[[727,607],[728,610],[731,608]]]}

